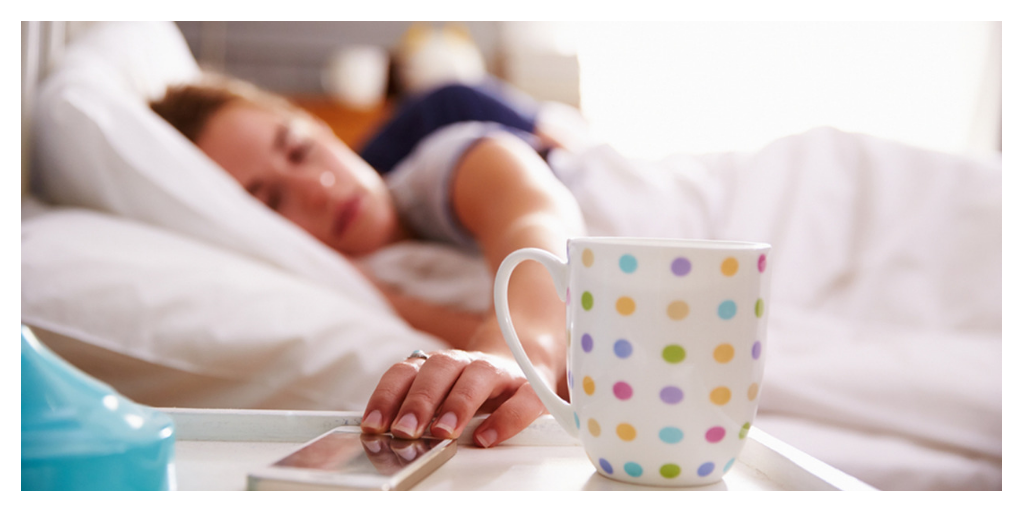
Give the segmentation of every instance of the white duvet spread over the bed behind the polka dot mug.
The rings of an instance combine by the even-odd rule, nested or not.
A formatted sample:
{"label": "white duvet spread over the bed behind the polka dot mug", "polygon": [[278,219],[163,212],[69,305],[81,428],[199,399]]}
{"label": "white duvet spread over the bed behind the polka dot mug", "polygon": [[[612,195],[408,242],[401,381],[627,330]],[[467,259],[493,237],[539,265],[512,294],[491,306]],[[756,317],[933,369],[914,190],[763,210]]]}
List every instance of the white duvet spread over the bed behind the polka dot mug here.
{"label": "white duvet spread over the bed behind the polka dot mug", "polygon": [[[761,428],[880,488],[1001,488],[999,162],[826,128],[752,154],[562,158],[590,234],[772,244]],[[368,264],[489,306],[465,254]]]}

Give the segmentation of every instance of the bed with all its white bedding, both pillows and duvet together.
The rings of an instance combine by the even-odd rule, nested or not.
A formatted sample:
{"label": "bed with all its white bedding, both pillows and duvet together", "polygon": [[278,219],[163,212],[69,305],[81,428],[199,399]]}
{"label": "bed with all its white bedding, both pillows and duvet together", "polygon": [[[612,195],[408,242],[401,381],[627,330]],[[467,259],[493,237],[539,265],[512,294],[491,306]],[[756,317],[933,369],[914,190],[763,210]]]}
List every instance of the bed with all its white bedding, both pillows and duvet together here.
{"label": "bed with all its white bedding, both pillows and duvet together", "polygon": [[[98,24],[36,91],[22,322],[142,403],[360,411],[391,364],[443,345],[147,110],[198,73],[173,24]],[[880,488],[1001,488],[998,160],[831,128],[560,158],[591,234],[773,245],[760,428]],[[490,307],[472,255],[404,243],[360,264]]]}

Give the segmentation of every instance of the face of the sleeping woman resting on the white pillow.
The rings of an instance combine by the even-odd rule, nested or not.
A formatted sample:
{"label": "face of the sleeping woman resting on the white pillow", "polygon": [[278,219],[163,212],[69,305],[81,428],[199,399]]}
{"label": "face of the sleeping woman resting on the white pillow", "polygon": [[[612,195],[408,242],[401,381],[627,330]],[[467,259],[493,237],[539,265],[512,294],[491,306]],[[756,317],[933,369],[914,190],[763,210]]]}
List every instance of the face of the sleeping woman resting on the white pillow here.
{"label": "face of the sleeping woman resting on the white pillow", "polygon": [[197,145],[250,194],[351,256],[395,240],[400,226],[380,175],[326,125],[234,101]]}

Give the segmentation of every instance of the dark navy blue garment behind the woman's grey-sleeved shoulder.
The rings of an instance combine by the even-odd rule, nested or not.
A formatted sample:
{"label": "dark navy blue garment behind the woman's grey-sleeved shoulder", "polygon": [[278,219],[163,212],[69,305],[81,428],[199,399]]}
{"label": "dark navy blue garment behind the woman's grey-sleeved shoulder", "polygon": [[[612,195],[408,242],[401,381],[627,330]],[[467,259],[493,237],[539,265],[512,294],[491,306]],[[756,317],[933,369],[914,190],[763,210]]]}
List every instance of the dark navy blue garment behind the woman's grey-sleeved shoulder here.
{"label": "dark navy blue garment behind the woman's grey-sleeved shoulder", "polygon": [[485,86],[446,85],[407,100],[359,156],[380,174],[387,174],[416,144],[439,128],[464,121],[490,121],[532,133],[537,111],[502,99]]}

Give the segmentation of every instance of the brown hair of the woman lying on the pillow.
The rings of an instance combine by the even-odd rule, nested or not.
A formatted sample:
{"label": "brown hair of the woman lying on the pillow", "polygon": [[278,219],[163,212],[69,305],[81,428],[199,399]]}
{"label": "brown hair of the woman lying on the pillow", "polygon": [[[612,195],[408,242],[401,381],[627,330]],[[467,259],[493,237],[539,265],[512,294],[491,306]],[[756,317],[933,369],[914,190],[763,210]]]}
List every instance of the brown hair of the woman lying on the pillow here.
{"label": "brown hair of the woman lying on the pillow", "polygon": [[162,98],[151,101],[150,108],[195,143],[210,118],[234,101],[308,116],[283,96],[262,90],[249,82],[220,75],[206,75],[196,83],[172,85]]}

